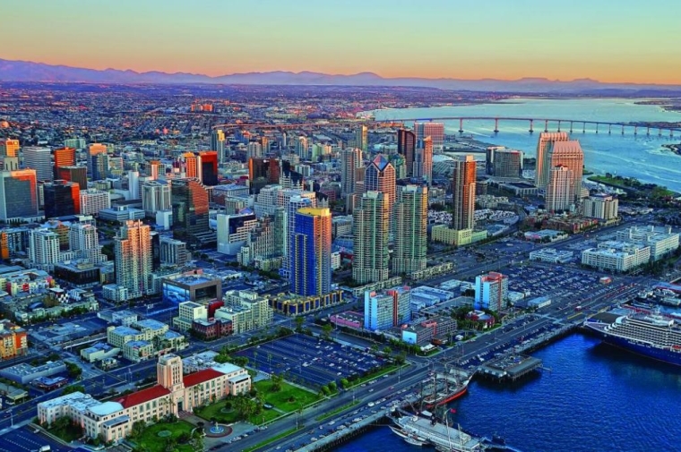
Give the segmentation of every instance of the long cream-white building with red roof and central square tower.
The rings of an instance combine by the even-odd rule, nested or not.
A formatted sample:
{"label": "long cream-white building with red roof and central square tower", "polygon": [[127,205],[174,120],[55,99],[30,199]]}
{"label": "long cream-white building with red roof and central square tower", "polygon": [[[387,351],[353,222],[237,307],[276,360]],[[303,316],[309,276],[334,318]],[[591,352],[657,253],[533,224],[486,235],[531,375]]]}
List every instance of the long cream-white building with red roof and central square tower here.
{"label": "long cream-white building with red roof and central square tower", "polygon": [[38,404],[41,424],[67,416],[81,424],[86,436],[116,441],[127,436],[134,422],[151,422],[168,414],[193,412],[200,405],[251,390],[251,377],[241,367],[224,363],[189,375],[183,374],[182,360],[175,354],[159,358],[157,384],[113,402],[99,402],[90,395],[74,392]]}

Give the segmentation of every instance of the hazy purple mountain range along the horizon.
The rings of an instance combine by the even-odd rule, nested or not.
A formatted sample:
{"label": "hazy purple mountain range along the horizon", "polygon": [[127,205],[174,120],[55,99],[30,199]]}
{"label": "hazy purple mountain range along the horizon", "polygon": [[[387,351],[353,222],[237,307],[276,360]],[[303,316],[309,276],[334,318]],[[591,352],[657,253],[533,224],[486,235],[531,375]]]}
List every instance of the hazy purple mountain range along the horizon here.
{"label": "hazy purple mountain range along the horizon", "polygon": [[4,60],[0,58],[0,81],[43,81],[85,83],[212,83],[240,85],[337,85],[337,86],[384,86],[426,87],[442,90],[503,91],[517,93],[556,94],[640,94],[655,92],[681,93],[681,85],[658,85],[638,83],[608,83],[590,79],[551,81],[543,78],[523,78],[506,81],[496,79],[426,79],[418,77],[381,77],[373,72],[351,75],[321,72],[246,72],[211,77],[187,72],[135,72],[131,70],[88,69],[65,65],[34,63],[30,61]]}

